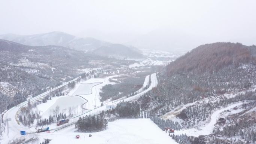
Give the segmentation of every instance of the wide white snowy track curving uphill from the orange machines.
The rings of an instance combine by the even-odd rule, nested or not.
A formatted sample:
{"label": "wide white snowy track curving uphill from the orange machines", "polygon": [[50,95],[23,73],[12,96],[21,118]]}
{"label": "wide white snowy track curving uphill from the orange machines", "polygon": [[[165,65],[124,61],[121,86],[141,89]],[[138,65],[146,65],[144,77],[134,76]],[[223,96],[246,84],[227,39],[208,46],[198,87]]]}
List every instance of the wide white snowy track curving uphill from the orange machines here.
{"label": "wide white snowy track curving uphill from the orange machines", "polygon": [[209,134],[212,133],[214,125],[215,125],[216,121],[218,120],[218,118],[220,117],[220,113],[222,113],[225,110],[229,110],[229,109],[232,109],[234,107],[237,107],[238,105],[241,105],[241,104],[244,104],[244,102],[238,102],[238,103],[235,103],[235,104],[231,104],[228,107],[216,110],[211,115],[211,121],[209,123],[207,123],[206,125],[201,126],[199,128],[200,130],[198,130],[196,128],[185,129],[185,130],[175,131],[174,134],[175,135],[186,134],[188,136],[194,136],[194,137],[198,137],[199,135],[209,135]]}

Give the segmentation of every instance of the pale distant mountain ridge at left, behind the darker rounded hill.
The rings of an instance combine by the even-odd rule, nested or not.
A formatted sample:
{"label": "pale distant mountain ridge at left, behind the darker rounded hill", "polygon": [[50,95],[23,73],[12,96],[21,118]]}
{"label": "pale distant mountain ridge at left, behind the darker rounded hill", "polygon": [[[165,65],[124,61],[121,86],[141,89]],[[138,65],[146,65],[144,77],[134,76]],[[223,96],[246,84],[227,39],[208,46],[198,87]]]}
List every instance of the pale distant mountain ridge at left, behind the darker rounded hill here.
{"label": "pale distant mountain ridge at left, behind the darker rounded hill", "polygon": [[101,40],[97,40],[91,37],[81,38],[58,31],[27,36],[4,34],[0,35],[0,39],[10,40],[16,43],[30,46],[64,46],[70,49],[80,51],[91,51],[101,46],[110,45],[110,43],[108,42],[103,42]]}

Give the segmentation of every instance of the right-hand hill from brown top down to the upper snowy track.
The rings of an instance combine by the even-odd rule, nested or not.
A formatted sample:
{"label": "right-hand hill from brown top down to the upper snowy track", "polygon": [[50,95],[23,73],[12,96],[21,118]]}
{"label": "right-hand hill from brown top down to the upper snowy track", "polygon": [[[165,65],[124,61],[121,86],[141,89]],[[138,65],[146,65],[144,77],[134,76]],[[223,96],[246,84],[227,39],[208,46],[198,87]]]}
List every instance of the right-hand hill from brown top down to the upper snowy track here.
{"label": "right-hand hill from brown top down to the upper snowy track", "polygon": [[158,74],[159,85],[141,107],[162,114],[179,104],[256,85],[256,46],[212,43],[198,46]]}

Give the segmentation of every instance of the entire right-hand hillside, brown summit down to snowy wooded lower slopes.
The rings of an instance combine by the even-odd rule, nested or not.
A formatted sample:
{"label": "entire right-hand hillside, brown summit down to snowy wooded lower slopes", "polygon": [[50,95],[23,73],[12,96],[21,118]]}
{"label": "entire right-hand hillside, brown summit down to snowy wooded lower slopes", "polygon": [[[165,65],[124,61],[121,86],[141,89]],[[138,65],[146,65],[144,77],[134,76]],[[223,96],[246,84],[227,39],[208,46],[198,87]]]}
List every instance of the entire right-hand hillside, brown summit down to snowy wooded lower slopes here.
{"label": "entire right-hand hillside, brown summit down to snowy wooded lower slopes", "polygon": [[[199,46],[158,73],[158,86],[139,99],[141,109],[150,112],[160,128],[197,129],[206,125],[215,111],[241,103],[233,109],[235,113],[222,114],[213,135],[200,138],[207,144],[242,144],[245,140],[252,143],[254,136],[250,135],[256,135],[255,54],[255,46],[240,43]],[[174,126],[176,121],[179,123]],[[222,139],[213,137],[220,134]]]}

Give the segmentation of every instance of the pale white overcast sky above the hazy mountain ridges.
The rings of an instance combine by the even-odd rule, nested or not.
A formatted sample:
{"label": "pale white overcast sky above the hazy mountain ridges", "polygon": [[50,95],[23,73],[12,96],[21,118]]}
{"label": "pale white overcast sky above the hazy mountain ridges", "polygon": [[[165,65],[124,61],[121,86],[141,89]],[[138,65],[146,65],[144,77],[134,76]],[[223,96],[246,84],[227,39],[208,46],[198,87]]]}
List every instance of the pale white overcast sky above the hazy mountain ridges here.
{"label": "pale white overcast sky above the hazy mountain ridges", "polygon": [[256,0],[0,0],[0,34],[51,31],[135,46],[252,45]]}

